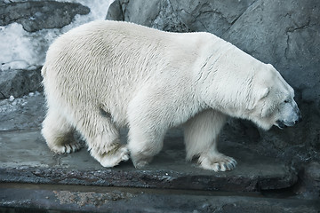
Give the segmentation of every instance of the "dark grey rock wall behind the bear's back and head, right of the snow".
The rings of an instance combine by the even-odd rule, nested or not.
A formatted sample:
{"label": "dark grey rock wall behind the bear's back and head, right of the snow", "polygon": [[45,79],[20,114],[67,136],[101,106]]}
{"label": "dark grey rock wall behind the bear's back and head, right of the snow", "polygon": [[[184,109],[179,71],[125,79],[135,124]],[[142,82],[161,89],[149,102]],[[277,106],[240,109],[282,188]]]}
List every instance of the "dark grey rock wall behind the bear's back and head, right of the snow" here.
{"label": "dark grey rock wall behind the bear's back and head, right of the snow", "polygon": [[[264,132],[230,121],[228,132],[247,146],[288,162],[316,159],[320,151],[320,2],[317,0],[116,0],[108,20],[126,20],[166,31],[213,33],[271,63],[296,91],[303,122]],[[239,138],[237,139],[239,140]]]}

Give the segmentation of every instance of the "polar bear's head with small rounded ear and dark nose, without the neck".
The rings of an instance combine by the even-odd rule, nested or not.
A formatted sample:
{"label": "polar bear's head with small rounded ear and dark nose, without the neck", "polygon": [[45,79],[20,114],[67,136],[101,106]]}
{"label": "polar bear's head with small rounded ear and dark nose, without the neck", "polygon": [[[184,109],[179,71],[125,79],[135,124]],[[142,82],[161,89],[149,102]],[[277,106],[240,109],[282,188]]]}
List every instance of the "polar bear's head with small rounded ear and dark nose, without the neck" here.
{"label": "polar bear's head with small rounded ear and dark nose, without the neck", "polygon": [[294,101],[292,87],[271,65],[265,65],[252,79],[252,101],[248,116],[264,130],[276,125],[280,129],[300,122],[301,115]]}

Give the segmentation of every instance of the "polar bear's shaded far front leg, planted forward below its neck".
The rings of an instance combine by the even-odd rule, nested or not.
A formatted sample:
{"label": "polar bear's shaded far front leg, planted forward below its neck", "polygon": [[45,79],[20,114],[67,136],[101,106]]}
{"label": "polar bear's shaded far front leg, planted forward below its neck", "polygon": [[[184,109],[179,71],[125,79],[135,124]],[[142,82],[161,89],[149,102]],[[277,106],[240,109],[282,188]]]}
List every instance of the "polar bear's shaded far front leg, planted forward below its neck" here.
{"label": "polar bear's shaded far front leg, planted forward below its neck", "polygon": [[218,135],[226,122],[226,115],[212,109],[191,118],[184,125],[187,160],[198,157],[205,170],[226,171],[236,168],[236,160],[220,154],[217,149]]}

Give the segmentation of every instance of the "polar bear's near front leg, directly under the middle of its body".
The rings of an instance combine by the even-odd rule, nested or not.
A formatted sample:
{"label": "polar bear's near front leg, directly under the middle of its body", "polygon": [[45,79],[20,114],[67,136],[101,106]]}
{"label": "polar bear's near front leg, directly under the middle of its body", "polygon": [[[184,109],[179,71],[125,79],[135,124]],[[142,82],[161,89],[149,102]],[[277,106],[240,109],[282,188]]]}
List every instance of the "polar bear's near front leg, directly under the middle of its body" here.
{"label": "polar bear's near front leg, directly under the middle of its body", "polygon": [[128,148],[136,168],[151,162],[163,147],[164,134],[169,126],[164,113],[168,104],[158,94],[163,94],[160,89],[141,90],[128,107]]}

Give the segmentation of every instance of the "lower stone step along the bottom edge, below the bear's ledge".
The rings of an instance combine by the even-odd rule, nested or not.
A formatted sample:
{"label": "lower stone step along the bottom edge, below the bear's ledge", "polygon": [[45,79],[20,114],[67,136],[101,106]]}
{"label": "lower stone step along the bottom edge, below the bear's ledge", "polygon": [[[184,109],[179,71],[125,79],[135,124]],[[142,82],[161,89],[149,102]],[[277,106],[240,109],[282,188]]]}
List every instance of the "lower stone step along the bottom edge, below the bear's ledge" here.
{"label": "lower stone step along the bottom edge, below the bear's ledge", "polygon": [[[128,189],[82,185],[0,185],[0,212],[317,213],[317,201],[258,193]],[[23,209],[26,208],[26,209]],[[9,211],[10,210],[10,211]]]}

